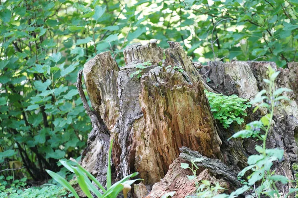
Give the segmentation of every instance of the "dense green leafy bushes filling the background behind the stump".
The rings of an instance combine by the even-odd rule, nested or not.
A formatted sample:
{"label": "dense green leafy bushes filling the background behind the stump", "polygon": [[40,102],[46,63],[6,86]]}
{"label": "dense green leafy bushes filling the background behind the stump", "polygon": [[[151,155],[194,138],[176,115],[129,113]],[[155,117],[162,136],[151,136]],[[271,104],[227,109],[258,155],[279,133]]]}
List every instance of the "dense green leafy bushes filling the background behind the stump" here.
{"label": "dense green leafy bushes filling the background behind the stump", "polygon": [[[91,130],[75,88],[96,54],[180,42],[194,61],[297,61],[297,0],[0,1],[0,167],[45,180]],[[0,172],[5,176],[13,170]],[[63,171],[61,175],[65,174]]]}

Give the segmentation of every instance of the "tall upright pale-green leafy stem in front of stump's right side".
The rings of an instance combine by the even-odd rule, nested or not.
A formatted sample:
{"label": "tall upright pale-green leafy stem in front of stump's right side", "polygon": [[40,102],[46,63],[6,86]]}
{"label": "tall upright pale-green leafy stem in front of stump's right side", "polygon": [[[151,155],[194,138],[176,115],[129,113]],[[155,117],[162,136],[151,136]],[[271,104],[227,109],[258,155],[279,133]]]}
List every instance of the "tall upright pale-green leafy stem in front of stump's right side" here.
{"label": "tall upright pale-green leafy stem in front of stump's right side", "polygon": [[[280,148],[266,148],[266,140],[273,122],[274,108],[278,101],[288,99],[285,96],[281,96],[283,92],[292,91],[286,88],[275,90],[274,82],[279,73],[279,71],[276,72],[272,67],[269,67],[269,79],[264,79],[264,82],[268,84],[268,90],[262,90],[256,95],[255,99],[251,101],[251,103],[257,104],[254,111],[260,107],[265,107],[268,109],[268,114],[258,121],[247,124],[245,130],[239,131],[231,137],[249,138],[253,136],[263,141],[262,146],[257,145],[255,148],[259,154],[250,155],[247,159],[248,166],[238,174],[238,177],[243,177],[247,171],[252,170],[252,173],[247,177],[247,185],[243,188],[248,190],[258,183],[258,187],[254,188],[254,193],[258,198],[261,196],[271,198],[280,197],[276,183],[281,182],[287,184],[290,181],[285,176],[275,175],[275,172],[271,171],[273,162],[283,158],[284,150]],[[298,191],[298,189],[290,189],[290,193],[295,191]],[[284,196],[288,197],[289,194]]]}

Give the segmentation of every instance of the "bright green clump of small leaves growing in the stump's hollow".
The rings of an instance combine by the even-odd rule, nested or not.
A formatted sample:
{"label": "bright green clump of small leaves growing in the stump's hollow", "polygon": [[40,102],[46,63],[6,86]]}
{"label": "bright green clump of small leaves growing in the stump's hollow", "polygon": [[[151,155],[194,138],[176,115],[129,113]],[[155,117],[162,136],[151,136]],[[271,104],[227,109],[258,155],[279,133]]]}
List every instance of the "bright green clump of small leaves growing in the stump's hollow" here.
{"label": "bright green clump of small leaves growing in the stump's hollow", "polygon": [[244,122],[241,116],[246,116],[245,109],[251,106],[248,99],[242,99],[236,95],[224,96],[207,90],[205,90],[205,94],[209,100],[214,118],[219,120],[224,128],[228,128],[234,121],[238,124]]}

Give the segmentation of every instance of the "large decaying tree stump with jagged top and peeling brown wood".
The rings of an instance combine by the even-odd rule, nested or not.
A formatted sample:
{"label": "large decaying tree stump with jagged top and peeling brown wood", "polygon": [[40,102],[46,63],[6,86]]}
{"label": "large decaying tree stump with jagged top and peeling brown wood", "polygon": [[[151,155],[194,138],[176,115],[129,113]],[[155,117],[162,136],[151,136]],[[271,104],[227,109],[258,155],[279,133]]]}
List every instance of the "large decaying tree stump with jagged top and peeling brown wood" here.
{"label": "large decaying tree stump with jagged top and peeling brown wood", "polygon": [[[156,41],[146,46],[134,44],[123,51],[126,65],[120,69],[109,52],[97,54],[85,64],[83,76],[94,110],[85,101],[79,74],[77,87],[93,126],[82,154],[82,166],[105,184],[108,143],[113,137],[112,162],[117,176],[114,179],[136,171],[144,179],[134,185],[132,197],[159,198],[167,192],[175,192],[177,198],[191,195],[195,191],[194,181],[187,180],[186,175],[190,173],[180,168],[180,162],[189,160],[190,153],[208,157],[211,164],[218,162],[218,171],[210,164],[202,165],[199,170],[202,175],[198,178],[214,178],[213,181],[222,178],[218,181],[236,188],[240,185],[235,178],[237,173],[246,166],[247,156],[260,143],[250,139],[227,142],[244,125],[224,130],[214,119],[204,90],[252,99],[266,88],[263,79],[267,78],[268,65],[275,68],[276,65],[211,62],[199,71],[179,43],[169,42],[169,46],[162,50]],[[152,65],[142,69],[140,78],[131,78],[139,70],[136,67],[145,61]],[[183,71],[177,71],[175,66],[181,66]],[[268,147],[285,149],[285,159],[275,164],[275,168],[278,174],[293,179],[291,164],[297,161],[298,152],[295,142],[298,63],[279,70],[277,86],[293,89],[289,94],[293,101],[279,106]],[[250,122],[256,116],[250,113],[245,121]],[[188,155],[179,157],[179,148]],[[224,174],[227,170],[230,173]],[[284,191],[288,192],[292,186],[289,184]]]}

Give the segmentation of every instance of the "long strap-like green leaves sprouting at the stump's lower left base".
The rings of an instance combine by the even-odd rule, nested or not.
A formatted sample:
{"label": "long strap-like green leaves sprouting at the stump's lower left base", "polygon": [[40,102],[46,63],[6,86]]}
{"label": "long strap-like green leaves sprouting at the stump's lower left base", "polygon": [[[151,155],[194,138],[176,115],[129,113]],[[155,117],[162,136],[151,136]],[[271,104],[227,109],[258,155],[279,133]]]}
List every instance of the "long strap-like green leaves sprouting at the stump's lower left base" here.
{"label": "long strap-like green leaves sprouting at the stump's lower left base", "polygon": [[[128,175],[121,179],[120,181],[116,182],[112,185],[112,173],[111,173],[111,153],[112,153],[112,145],[113,141],[110,143],[110,149],[108,153],[108,168],[107,168],[107,189],[105,189],[97,180],[96,178],[89,173],[87,170],[85,170],[83,167],[81,167],[74,159],[72,161],[74,162],[75,166],[71,165],[67,161],[60,160],[60,162],[65,166],[67,169],[69,169],[71,172],[73,172],[76,175],[77,183],[81,190],[84,192],[84,194],[88,198],[92,198],[92,193],[94,193],[98,198],[116,198],[118,194],[123,191],[124,197],[127,197],[128,192],[131,190],[131,185],[140,180],[129,180],[131,177],[135,177],[138,175],[138,173],[133,173],[131,175]],[[53,177],[57,182],[59,182],[62,186],[64,186],[66,189],[68,189],[70,192],[73,193],[75,198],[79,198],[77,193],[75,192],[72,185],[63,177],[61,177],[59,174],[46,170],[51,177]],[[100,193],[97,188],[91,183],[89,178],[96,184],[97,188],[99,188],[102,192]]]}

